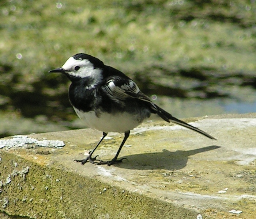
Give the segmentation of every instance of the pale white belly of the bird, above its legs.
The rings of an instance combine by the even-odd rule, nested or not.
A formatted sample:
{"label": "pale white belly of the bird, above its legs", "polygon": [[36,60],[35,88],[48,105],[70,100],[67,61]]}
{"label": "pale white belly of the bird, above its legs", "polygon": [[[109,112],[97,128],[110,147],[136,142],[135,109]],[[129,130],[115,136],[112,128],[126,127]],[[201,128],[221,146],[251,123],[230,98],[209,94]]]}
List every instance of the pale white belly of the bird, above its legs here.
{"label": "pale white belly of the bird, above its legs", "polygon": [[83,112],[76,108],[74,110],[78,117],[85,122],[87,127],[106,133],[110,131],[125,132],[132,130],[143,121],[143,119],[136,118],[127,112],[120,112],[114,115],[104,112],[97,117],[94,111]]}

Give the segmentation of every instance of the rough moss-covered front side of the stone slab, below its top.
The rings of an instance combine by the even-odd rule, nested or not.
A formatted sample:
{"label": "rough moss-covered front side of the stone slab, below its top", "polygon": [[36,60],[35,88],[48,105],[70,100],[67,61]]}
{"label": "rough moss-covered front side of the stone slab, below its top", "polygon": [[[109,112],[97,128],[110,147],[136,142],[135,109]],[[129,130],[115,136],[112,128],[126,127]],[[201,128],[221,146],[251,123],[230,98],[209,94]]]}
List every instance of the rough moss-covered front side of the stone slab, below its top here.
{"label": "rough moss-covered front side of the stone slab, below its top", "polygon": [[1,211],[29,218],[195,218],[197,213],[1,151]]}

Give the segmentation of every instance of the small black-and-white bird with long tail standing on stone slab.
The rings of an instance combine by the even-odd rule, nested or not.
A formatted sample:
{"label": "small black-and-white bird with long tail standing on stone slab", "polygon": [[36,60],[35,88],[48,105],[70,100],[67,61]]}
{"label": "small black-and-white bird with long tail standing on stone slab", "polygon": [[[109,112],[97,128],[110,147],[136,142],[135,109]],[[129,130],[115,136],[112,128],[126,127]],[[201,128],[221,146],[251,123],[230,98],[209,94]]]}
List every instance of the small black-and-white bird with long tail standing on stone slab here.
{"label": "small black-and-white bird with long tail standing on stone slab", "polygon": [[[157,114],[166,122],[176,123],[196,131],[210,139],[206,132],[179,120],[153,103],[140,91],[138,85],[120,70],[105,65],[100,59],[85,53],[68,58],[61,68],[49,73],[62,73],[71,81],[68,90],[69,101],[78,117],[87,127],[103,133],[100,141],[81,164],[91,162],[97,165],[112,165],[126,158],[117,159],[129,137],[130,130],[137,127],[151,114]],[[103,161],[92,157],[108,132],[124,133],[123,141],[112,160]],[[216,140],[216,139],[215,139]]]}

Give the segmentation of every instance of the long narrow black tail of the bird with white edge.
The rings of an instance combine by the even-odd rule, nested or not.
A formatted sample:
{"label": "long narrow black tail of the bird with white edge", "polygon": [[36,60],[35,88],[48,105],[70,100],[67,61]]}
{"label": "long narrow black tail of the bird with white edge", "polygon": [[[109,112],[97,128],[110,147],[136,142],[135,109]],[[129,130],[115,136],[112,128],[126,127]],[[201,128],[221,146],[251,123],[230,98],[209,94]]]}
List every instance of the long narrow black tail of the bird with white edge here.
{"label": "long narrow black tail of the bird with white edge", "polygon": [[173,117],[171,114],[169,114],[168,112],[166,112],[165,110],[163,110],[162,108],[158,107],[158,105],[155,105],[154,104],[154,108],[157,108],[157,111],[156,113],[163,119],[165,120],[166,122],[173,122],[173,123],[176,123],[176,124],[179,124],[181,126],[184,126],[186,128],[189,128],[191,130],[194,130],[210,139],[214,139],[214,140],[217,140],[216,138],[212,137],[211,135],[207,134],[206,132],[200,130],[199,128],[196,128],[194,126],[191,126],[190,124],[188,123],[185,123],[175,117]]}

